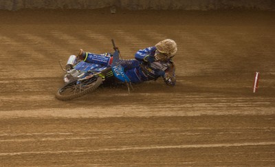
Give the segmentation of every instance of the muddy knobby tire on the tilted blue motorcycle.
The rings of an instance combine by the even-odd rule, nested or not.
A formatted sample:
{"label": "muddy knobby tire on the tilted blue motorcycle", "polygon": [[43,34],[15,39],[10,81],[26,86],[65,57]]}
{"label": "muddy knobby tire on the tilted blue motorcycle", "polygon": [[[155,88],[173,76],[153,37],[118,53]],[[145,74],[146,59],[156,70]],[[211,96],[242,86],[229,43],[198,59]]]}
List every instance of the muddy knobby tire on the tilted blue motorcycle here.
{"label": "muddy knobby tire on the tilted blue motorcycle", "polygon": [[[85,96],[87,93],[90,93],[91,91],[96,90],[103,82],[101,77],[89,78],[87,80],[87,82],[89,82],[89,80],[92,80],[92,81],[90,81],[91,83],[85,85],[85,87],[82,88],[83,89],[82,91],[80,91],[81,84],[77,84],[77,81],[71,82],[71,83],[61,87],[56,92],[56,98],[58,100],[72,100],[74,98],[79,98],[81,96]],[[69,90],[71,88],[74,89],[74,91],[72,91],[72,93],[69,92],[69,94],[63,94],[66,90]],[[76,91],[79,91],[79,92],[76,92]]]}

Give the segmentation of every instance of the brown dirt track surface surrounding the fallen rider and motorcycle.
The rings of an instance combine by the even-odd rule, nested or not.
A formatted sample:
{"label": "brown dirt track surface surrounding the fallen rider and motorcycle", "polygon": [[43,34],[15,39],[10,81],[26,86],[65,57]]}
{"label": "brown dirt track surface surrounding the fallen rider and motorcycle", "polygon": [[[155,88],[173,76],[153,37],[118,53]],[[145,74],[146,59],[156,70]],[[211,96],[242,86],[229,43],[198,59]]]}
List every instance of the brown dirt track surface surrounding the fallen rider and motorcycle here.
{"label": "brown dirt track surface surrounding the fallen rider and motorcycle", "polygon": [[[0,12],[1,166],[274,166],[274,12]],[[161,79],[54,98],[79,48],[123,58],[173,38]],[[254,73],[261,73],[252,93]]]}

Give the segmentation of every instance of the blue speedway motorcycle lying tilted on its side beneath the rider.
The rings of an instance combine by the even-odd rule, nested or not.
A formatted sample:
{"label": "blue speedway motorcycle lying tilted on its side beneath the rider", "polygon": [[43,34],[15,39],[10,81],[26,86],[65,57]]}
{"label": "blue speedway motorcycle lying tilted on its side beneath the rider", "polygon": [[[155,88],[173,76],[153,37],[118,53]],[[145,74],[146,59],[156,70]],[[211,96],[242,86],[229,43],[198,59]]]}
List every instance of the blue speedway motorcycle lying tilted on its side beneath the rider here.
{"label": "blue speedway motorcycle lying tilted on its side beneath the rider", "polygon": [[95,91],[104,82],[124,82],[130,92],[131,80],[124,73],[124,68],[120,65],[120,51],[115,46],[113,39],[113,62],[111,67],[106,67],[97,63],[86,63],[72,55],[67,60],[65,68],[64,82],[65,85],[58,89],[56,98],[58,100],[72,100],[85,96],[87,93]]}

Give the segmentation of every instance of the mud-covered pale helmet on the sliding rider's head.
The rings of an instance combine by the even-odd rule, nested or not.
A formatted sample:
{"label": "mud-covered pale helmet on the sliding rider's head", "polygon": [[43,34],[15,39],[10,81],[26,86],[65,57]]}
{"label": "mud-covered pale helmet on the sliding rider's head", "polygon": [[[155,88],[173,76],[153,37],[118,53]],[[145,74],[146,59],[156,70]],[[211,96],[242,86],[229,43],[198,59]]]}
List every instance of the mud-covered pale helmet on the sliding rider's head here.
{"label": "mud-covered pale helmet on the sliding rider's head", "polygon": [[155,44],[155,47],[158,52],[166,54],[167,58],[171,58],[177,53],[177,43],[172,39],[164,39]]}

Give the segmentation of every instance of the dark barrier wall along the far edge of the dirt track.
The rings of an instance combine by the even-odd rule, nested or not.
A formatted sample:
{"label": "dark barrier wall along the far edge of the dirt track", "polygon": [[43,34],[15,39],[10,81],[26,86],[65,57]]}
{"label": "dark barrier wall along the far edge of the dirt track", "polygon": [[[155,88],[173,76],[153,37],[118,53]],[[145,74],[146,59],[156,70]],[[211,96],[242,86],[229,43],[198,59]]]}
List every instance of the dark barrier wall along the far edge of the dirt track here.
{"label": "dark barrier wall along the far edge of the dirt track", "polygon": [[127,10],[275,10],[275,0],[0,0],[0,10],[96,9],[112,5]]}

